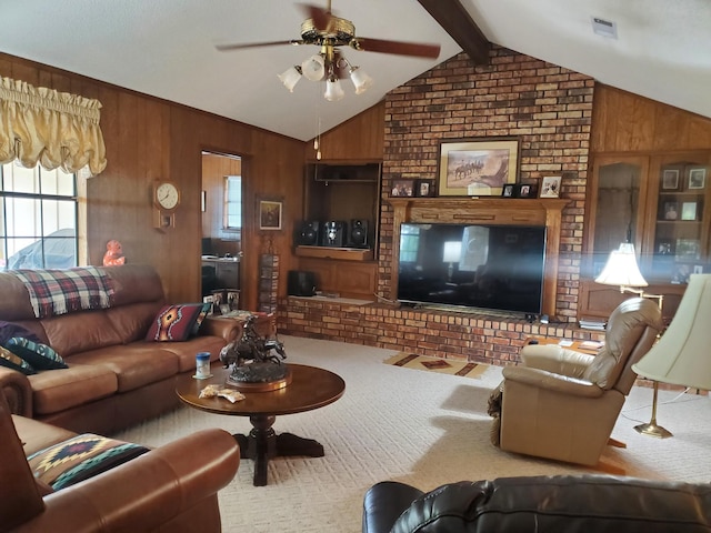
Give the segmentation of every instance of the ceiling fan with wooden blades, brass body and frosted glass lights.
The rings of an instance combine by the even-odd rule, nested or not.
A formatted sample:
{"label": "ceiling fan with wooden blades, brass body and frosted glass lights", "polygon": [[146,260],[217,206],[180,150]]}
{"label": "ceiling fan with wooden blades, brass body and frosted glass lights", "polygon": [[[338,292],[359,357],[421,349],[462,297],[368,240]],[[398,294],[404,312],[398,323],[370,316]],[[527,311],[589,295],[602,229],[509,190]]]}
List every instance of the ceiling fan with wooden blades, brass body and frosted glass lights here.
{"label": "ceiling fan with wooden blades, brass body and frosted glass lights", "polygon": [[292,92],[302,76],[311,81],[326,79],[324,97],[330,101],[340,100],[343,97],[343,90],[339,83],[339,79],[341,78],[351,78],[351,81],[356,86],[357,94],[365,91],[372,84],[372,79],[359,70],[359,67],[352,66],[341,54],[338,47],[348,46],[358,51],[392,53],[427,59],[437,59],[440,54],[439,44],[357,37],[353,22],[336,17],[331,12],[331,0],[328,0],[328,7],[326,9],[306,3],[300,6],[308,17],[301,23],[301,39],[243,44],[218,44],[216,48],[220,51],[228,51],[280,44],[316,44],[320,47],[320,51],[317,54],[310,57],[300,66],[289,68],[279,76],[279,79],[287,89]]}

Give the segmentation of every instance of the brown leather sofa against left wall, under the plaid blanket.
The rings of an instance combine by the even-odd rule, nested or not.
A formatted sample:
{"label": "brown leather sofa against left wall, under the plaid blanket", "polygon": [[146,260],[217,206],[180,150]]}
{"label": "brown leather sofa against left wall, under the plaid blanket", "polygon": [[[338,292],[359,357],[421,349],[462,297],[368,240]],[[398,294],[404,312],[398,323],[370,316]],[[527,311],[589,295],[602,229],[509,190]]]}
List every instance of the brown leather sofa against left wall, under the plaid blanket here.
{"label": "brown leather sofa against left wall, under the plaid blanket", "polygon": [[[112,434],[174,409],[178,374],[194,372],[196,353],[220,350],[241,323],[208,318],[184,342],[149,342],[146,335],[167,303],[152,266],[99,266],[114,290],[110,308],[38,319],[26,284],[0,273],[0,320],[34,333],[68,369],[24,375],[0,366],[0,390],[14,414],[77,432]],[[174,302],[172,302],[174,303]]]}

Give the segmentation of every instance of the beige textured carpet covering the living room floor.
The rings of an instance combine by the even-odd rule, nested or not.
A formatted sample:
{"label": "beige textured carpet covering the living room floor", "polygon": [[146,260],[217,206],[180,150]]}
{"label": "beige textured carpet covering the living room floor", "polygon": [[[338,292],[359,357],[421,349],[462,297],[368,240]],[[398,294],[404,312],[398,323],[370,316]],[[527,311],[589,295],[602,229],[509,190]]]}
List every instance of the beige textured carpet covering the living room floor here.
{"label": "beige textured carpet covering the living room floor", "polygon": [[[292,336],[282,341],[288,362],[337,372],[346,380],[346,394],[326,408],[277,419],[277,432],[317,439],[326,456],[276,459],[269,485],[261,487],[252,486],[252,461],[242,461],[220,492],[226,532],[360,532],[363,494],[382,480],[430,490],[459,480],[589,472],[490,444],[487,398],[500,382],[500,368],[461,378],[383,364],[398,353],[393,350]],[[660,391],[658,422],[674,436],[657,440],[633,430],[637,421],[649,421],[651,396],[650,389],[632,391],[613,432],[628,449],[611,447],[605,461],[635,476],[708,481],[711,400]],[[183,408],[119,436],[157,446],[210,426],[250,430],[243,418]]]}

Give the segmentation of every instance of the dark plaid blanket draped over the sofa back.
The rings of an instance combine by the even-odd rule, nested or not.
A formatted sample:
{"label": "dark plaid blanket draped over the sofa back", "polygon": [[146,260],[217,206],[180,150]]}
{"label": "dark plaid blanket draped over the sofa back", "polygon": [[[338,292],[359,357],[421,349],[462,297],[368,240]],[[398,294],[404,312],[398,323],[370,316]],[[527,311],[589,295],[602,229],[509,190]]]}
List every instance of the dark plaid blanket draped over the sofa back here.
{"label": "dark plaid blanket draped over the sofa back", "polygon": [[27,286],[34,316],[43,319],[84,309],[111,306],[111,279],[96,266],[63,270],[13,270]]}

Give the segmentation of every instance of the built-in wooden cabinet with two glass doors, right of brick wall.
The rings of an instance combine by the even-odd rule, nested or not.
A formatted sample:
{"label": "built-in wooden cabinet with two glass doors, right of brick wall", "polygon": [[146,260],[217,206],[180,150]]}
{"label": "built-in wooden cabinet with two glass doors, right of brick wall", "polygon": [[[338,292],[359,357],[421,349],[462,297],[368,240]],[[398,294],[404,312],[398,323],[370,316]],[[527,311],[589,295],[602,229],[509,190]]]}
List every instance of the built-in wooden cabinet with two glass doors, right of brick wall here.
{"label": "built-in wooden cabinet with two glass doors, right of brick wall", "polygon": [[648,292],[669,319],[689,275],[711,270],[711,151],[598,154],[588,187],[579,318],[607,318],[629,294],[594,283],[612,250],[631,242]]}

